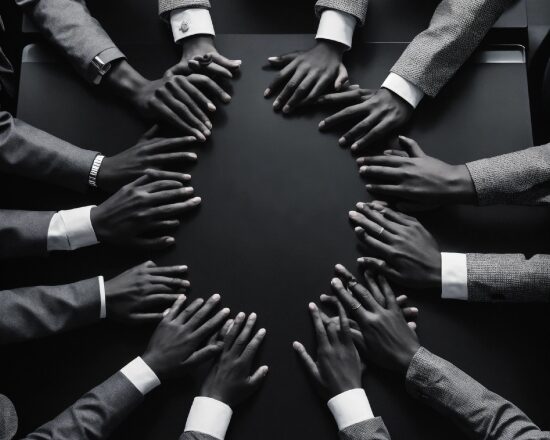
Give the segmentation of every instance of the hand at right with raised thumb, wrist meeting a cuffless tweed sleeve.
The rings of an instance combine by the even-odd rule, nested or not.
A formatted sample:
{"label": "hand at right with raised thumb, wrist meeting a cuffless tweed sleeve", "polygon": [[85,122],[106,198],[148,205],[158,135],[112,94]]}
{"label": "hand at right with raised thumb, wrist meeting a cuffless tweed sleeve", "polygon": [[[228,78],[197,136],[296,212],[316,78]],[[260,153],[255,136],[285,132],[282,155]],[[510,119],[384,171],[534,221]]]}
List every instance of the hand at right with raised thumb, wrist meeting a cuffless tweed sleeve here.
{"label": "hand at right with raised thumb, wrist meeting a cuffless tweed sleeve", "polygon": [[475,187],[466,165],[449,165],[427,156],[412,139],[399,136],[407,156],[392,151],[358,159],[367,190],[381,197],[426,204],[475,203]]}

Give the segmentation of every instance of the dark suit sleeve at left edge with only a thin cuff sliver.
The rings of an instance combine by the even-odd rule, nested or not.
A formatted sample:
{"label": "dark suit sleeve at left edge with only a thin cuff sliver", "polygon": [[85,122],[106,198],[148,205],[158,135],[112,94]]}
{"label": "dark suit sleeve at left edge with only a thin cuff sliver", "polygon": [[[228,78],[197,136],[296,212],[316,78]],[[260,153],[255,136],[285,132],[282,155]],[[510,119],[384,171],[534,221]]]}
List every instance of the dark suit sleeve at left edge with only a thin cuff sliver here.
{"label": "dark suit sleeve at left edge with only a thin cuff sliver", "polygon": [[0,344],[61,333],[99,321],[99,280],[0,291]]}

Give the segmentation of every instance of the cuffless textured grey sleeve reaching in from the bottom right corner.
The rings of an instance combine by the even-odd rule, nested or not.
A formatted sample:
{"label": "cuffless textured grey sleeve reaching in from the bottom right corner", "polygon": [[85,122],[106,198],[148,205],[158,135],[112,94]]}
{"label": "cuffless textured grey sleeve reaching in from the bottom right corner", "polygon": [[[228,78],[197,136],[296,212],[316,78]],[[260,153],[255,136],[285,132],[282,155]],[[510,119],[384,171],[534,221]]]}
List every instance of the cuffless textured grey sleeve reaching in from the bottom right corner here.
{"label": "cuffless textured grey sleeve reaching in from the bottom right corner", "polygon": [[549,440],[519,408],[425,348],[407,371],[407,390],[472,439]]}

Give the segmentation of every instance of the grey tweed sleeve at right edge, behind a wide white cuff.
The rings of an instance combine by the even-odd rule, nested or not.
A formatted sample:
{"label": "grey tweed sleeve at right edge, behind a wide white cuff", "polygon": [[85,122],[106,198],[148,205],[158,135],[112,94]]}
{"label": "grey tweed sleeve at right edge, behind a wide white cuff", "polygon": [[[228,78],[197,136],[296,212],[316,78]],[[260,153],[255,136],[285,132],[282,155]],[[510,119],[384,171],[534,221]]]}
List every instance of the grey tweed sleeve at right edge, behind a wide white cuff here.
{"label": "grey tweed sleeve at right edge, behind a wide white cuff", "polygon": [[550,255],[467,254],[468,299],[550,301]]}

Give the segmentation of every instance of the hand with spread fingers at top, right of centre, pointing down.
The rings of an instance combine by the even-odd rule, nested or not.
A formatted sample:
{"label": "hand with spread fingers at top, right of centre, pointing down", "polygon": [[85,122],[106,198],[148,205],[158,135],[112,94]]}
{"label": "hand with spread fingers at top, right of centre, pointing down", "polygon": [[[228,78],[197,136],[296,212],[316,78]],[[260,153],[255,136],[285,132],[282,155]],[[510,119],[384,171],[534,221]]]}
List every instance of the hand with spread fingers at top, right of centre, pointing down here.
{"label": "hand with spread fingers at top, right of centre, pointing down", "polygon": [[342,64],[345,47],[340,43],[319,40],[309,50],[292,52],[268,58],[269,63],[282,69],[264,92],[269,98],[281,93],[273,108],[290,113],[299,106],[314,102],[334,86],[339,90],[347,81],[348,73]]}

